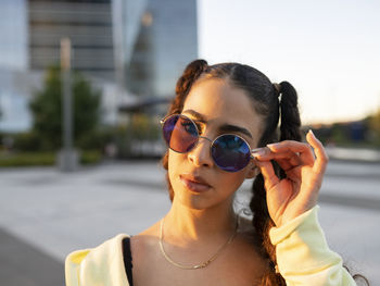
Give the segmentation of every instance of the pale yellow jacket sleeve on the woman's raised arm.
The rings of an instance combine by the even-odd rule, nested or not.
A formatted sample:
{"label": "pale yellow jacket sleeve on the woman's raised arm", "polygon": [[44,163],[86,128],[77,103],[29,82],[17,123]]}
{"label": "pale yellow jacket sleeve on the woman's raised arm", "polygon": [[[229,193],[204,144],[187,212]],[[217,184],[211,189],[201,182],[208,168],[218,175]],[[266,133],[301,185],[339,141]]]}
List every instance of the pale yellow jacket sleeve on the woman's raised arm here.
{"label": "pale yellow jacket sleeve on the woman's raised arm", "polygon": [[288,286],[355,286],[342,266],[342,258],[331,251],[319,225],[319,206],[304,212],[269,237],[276,246],[277,265]]}

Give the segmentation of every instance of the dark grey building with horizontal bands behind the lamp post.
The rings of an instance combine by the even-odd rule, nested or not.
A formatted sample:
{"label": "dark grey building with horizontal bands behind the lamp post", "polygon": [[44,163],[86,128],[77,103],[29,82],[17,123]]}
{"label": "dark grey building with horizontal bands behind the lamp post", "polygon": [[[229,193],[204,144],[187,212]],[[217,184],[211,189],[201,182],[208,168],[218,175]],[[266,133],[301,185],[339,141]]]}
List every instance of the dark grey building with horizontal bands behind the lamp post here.
{"label": "dark grey building with horizontal bands behind the lamp post", "polygon": [[28,0],[29,69],[60,63],[61,38],[74,50],[72,69],[114,80],[111,0]]}

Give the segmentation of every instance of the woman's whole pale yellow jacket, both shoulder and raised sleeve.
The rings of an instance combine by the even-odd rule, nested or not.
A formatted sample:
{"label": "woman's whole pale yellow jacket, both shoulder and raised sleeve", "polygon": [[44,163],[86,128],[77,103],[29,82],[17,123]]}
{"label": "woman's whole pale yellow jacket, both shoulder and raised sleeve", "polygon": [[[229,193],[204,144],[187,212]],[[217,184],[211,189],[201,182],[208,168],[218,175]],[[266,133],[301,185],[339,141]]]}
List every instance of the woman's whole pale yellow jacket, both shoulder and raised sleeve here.
{"label": "woman's whole pale yellow jacket, both shoulder and raised sleeve", "polygon": [[[331,251],[317,219],[316,206],[269,232],[276,245],[278,270],[288,286],[355,286]],[[66,286],[129,286],[119,234],[102,245],[69,253],[65,261]]]}

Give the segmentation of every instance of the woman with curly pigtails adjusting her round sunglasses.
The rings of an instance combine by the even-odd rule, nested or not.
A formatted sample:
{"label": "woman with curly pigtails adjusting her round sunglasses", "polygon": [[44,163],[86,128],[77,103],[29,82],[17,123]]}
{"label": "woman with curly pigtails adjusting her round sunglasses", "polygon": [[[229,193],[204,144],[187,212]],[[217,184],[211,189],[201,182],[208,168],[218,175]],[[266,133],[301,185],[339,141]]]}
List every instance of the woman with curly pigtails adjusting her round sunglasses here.
{"label": "woman with curly pigtails adjusting her round sunglasses", "polygon": [[[197,60],[162,124],[170,210],[138,235],[71,253],[66,285],[356,285],[319,227],[328,158],[312,132],[300,142],[289,83]],[[232,207],[246,178],[252,221]]]}

